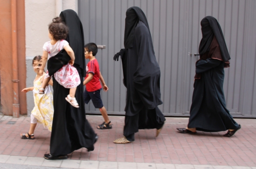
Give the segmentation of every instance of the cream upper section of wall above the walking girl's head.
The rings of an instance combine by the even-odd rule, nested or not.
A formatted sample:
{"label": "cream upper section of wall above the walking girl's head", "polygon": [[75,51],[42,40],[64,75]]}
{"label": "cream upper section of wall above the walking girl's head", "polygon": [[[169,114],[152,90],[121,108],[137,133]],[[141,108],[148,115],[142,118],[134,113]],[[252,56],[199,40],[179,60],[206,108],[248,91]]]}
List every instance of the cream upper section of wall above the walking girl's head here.
{"label": "cream upper section of wall above the walking girl's head", "polygon": [[[62,10],[77,12],[77,0],[62,0]],[[42,54],[43,44],[49,41],[48,24],[56,17],[55,0],[25,0],[26,56]]]}

